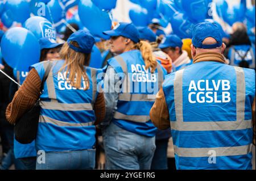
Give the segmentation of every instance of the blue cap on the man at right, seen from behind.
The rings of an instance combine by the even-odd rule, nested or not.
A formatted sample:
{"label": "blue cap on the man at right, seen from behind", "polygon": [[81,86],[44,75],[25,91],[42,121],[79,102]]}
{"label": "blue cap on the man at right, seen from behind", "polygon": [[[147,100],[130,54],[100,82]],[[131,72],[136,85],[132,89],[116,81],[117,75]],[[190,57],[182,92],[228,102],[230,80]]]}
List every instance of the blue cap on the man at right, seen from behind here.
{"label": "blue cap on the man at right, seen from behind", "polygon": [[[213,37],[217,43],[212,45],[203,45],[207,37]],[[192,44],[197,48],[216,48],[222,45],[222,35],[220,28],[216,23],[203,22],[196,24],[192,32]]]}

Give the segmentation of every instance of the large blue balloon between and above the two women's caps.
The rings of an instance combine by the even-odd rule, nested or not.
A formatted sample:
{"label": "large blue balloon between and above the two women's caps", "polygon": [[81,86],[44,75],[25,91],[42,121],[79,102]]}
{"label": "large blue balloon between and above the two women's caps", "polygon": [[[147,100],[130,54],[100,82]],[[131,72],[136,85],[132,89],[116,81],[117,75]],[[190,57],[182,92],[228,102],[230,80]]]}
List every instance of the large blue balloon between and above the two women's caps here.
{"label": "large blue balloon between and above the two women's caps", "polygon": [[104,39],[109,36],[103,31],[111,30],[112,22],[106,11],[98,9],[90,0],[81,0],[79,3],[79,17],[82,24],[94,35]]}

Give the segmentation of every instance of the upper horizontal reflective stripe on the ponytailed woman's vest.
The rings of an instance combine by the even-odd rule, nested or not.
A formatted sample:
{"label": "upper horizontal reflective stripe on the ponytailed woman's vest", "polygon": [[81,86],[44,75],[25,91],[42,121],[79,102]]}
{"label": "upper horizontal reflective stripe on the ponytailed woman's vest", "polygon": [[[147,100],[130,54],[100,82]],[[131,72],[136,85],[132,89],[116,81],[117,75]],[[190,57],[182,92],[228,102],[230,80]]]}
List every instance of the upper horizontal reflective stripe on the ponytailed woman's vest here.
{"label": "upper horizontal reflective stripe on the ponytailed woman's vest", "polygon": [[118,100],[122,101],[146,101],[154,102],[155,99],[152,99],[148,94],[130,94],[130,93],[120,93]]}

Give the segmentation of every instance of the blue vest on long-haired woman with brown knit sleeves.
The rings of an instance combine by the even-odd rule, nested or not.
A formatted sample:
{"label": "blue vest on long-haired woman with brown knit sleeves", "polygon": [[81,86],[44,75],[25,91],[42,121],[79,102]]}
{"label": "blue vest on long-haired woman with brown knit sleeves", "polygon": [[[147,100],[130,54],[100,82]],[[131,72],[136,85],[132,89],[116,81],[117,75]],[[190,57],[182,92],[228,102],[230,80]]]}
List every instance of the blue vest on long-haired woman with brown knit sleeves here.
{"label": "blue vest on long-haired woman with brown knit sleeves", "polygon": [[[41,79],[48,61],[32,65]],[[64,60],[52,61],[52,69],[44,83],[40,96],[40,118],[36,149],[44,151],[65,151],[91,149],[95,145],[96,120],[93,104],[98,96],[97,69],[86,67],[89,89],[84,91],[72,87],[66,80],[65,71],[59,71]],[[66,69],[65,69],[66,70]]]}

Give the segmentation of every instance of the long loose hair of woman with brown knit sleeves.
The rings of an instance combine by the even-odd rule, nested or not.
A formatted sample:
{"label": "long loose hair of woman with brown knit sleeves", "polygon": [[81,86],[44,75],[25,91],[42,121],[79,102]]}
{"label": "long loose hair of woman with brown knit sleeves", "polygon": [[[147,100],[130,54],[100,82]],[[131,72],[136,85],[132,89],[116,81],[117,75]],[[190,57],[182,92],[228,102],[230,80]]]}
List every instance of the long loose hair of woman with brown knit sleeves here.
{"label": "long loose hair of woman with brown knit sleeves", "polygon": [[[79,47],[76,41],[71,41],[70,43],[75,47]],[[86,87],[84,87],[84,90],[88,90],[89,79],[86,74],[84,65],[88,66],[90,61],[90,53],[85,54],[85,53],[76,52],[75,50],[69,48],[69,45],[66,42],[60,50],[60,58],[65,60],[65,62],[59,71],[64,71],[65,68],[67,67],[65,77],[68,83],[70,83],[72,87],[76,87],[76,89],[80,89],[81,81],[83,78],[86,85]]]}

